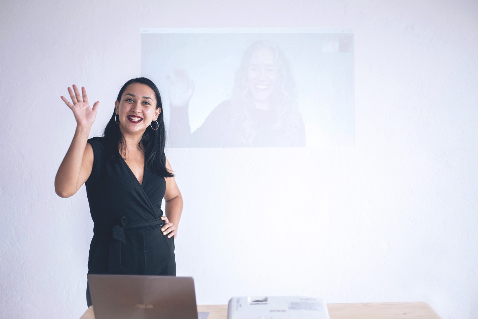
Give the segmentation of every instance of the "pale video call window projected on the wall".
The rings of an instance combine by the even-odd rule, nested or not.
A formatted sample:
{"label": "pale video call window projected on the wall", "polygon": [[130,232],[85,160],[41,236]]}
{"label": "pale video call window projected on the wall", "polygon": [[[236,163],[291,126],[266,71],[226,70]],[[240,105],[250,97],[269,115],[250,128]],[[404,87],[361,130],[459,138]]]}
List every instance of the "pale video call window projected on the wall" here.
{"label": "pale video call window projected on the wall", "polygon": [[142,29],[169,147],[354,146],[353,29]]}

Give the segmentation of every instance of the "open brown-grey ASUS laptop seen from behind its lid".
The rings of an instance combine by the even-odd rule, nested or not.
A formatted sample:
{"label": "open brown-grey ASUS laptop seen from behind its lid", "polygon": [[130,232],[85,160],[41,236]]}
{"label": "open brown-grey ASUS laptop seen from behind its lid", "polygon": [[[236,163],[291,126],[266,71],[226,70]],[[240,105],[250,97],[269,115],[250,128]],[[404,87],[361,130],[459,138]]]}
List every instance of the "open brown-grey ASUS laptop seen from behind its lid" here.
{"label": "open brown-grey ASUS laptop seen from behind its lid", "polygon": [[95,319],[206,319],[193,277],[88,275]]}

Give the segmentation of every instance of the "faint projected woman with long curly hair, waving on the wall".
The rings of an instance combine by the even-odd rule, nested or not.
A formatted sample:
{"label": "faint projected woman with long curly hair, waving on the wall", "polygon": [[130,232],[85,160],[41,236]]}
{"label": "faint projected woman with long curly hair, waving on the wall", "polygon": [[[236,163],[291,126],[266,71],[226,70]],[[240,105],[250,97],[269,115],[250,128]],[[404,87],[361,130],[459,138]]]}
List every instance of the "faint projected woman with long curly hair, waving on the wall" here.
{"label": "faint projected woman with long curly hair, waving on the wall", "polygon": [[243,55],[232,98],[221,102],[194,132],[189,100],[194,84],[184,71],[167,77],[171,147],[304,147],[289,61],[272,43],[258,41]]}

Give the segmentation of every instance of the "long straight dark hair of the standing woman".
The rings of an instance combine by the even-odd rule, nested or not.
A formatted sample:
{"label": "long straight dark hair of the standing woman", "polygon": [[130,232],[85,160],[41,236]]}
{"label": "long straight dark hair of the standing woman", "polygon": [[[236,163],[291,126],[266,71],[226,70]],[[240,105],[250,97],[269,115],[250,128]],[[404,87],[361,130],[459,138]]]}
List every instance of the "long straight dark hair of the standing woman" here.
{"label": "long straight dark hair of the standing woman", "polygon": [[[146,131],[143,133],[140,143],[138,144],[138,149],[144,154],[144,165],[146,169],[152,170],[159,176],[163,177],[173,177],[174,174],[166,168],[166,155],[164,154],[164,145],[166,143],[166,129],[164,128],[163,120],[163,103],[161,102],[161,95],[156,85],[146,77],[137,77],[132,78],[126,82],[118,93],[118,98],[116,99],[118,103],[121,101],[121,96],[123,95],[125,89],[133,83],[141,83],[149,86],[156,95],[156,109],[161,108],[161,113],[158,116],[158,129],[153,130],[151,126],[148,126]],[[106,124],[105,131],[103,136],[105,139],[105,146],[108,158],[110,161],[116,161],[119,159],[120,153],[118,148],[122,153],[126,148],[126,142],[124,136],[121,133],[120,125],[116,124],[115,121],[116,111],[113,110],[113,115],[109,119],[108,124]],[[141,145],[143,148],[141,148]]]}

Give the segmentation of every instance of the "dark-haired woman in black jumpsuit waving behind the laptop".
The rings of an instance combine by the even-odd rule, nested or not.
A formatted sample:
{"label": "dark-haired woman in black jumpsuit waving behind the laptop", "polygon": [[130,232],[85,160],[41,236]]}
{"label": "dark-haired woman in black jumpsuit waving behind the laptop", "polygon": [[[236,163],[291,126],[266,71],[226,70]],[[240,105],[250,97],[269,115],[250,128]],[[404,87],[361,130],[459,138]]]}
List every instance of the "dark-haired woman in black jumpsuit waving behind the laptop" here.
{"label": "dark-haired woman in black jumpsuit waving behind the laptop", "polygon": [[158,88],[145,77],[126,82],[103,136],[90,139],[99,102],[90,108],[81,89],[82,95],[75,85],[68,88],[73,104],[61,97],[73,111],[76,131],[58,168],[55,192],[67,198],[86,186],[94,222],[88,274],[176,275],[174,238],[183,199],[164,154]]}

